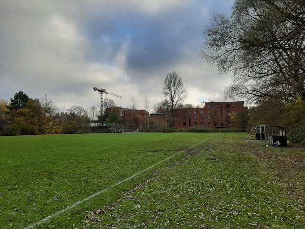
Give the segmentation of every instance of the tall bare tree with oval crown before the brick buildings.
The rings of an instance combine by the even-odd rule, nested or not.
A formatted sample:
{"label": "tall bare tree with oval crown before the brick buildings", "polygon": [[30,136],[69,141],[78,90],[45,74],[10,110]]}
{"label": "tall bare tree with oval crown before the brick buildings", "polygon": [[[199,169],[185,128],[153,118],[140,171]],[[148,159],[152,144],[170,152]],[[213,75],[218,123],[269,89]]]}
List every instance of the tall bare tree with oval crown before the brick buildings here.
{"label": "tall bare tree with oval crown before the brick buildings", "polygon": [[174,126],[176,109],[187,97],[187,89],[177,72],[170,72],[165,76],[162,85],[162,94],[169,102],[169,126]]}

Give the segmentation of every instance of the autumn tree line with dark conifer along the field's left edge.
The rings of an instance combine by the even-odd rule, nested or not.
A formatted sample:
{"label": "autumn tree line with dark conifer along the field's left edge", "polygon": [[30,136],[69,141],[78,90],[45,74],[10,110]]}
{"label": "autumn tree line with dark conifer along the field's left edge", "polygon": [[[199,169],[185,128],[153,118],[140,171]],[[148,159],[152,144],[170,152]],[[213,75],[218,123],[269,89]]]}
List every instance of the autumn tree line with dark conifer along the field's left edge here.
{"label": "autumn tree line with dark conifer along the field's left edge", "polygon": [[[104,103],[106,107],[116,106],[111,99]],[[99,116],[97,106],[85,109],[74,105],[59,111],[47,95],[32,99],[19,91],[10,103],[0,99],[1,135],[84,133],[90,125],[104,124],[106,119]]]}

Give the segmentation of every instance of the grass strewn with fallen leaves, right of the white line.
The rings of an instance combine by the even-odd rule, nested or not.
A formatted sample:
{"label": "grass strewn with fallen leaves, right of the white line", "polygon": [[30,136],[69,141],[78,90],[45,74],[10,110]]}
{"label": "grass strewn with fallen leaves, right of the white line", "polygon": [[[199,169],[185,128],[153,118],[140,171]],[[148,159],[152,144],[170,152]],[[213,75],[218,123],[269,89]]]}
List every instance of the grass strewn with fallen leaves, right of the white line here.
{"label": "grass strewn with fallen leaves, right of the white line", "polygon": [[[227,136],[227,137],[225,137]],[[240,136],[240,135],[239,135]],[[117,201],[86,215],[86,228],[303,228],[304,202],[291,195],[294,175],[276,158],[293,148],[248,145],[245,136],[221,134],[156,170]],[[280,153],[279,153],[280,151]],[[282,151],[286,151],[285,154]],[[303,154],[302,152],[296,153]],[[279,180],[278,170],[288,176]],[[284,176],[284,175],[283,175]],[[298,178],[304,187],[304,177]],[[290,190],[290,191],[289,191]],[[300,195],[302,190],[297,189]]]}

